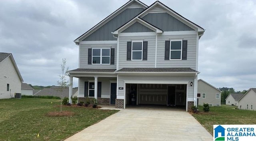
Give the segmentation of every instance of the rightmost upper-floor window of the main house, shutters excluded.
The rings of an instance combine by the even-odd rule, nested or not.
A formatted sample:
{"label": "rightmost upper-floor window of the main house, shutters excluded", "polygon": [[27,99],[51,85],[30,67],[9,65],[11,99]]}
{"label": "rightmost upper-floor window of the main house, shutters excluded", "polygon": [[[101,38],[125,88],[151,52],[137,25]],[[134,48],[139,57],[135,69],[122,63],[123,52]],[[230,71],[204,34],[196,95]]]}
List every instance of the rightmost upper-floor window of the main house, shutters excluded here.
{"label": "rightmost upper-floor window of the main house, shutters excluded", "polygon": [[182,59],[182,40],[170,40],[170,60]]}

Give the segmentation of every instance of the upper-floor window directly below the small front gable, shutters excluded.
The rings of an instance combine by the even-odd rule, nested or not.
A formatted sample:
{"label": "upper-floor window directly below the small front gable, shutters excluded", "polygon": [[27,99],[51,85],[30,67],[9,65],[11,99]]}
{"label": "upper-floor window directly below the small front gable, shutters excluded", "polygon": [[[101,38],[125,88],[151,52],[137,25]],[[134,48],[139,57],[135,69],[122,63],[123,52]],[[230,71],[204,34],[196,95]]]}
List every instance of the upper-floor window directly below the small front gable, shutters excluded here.
{"label": "upper-floor window directly below the small front gable, shutters excluded", "polygon": [[143,41],[132,41],[132,60],[142,60]]}

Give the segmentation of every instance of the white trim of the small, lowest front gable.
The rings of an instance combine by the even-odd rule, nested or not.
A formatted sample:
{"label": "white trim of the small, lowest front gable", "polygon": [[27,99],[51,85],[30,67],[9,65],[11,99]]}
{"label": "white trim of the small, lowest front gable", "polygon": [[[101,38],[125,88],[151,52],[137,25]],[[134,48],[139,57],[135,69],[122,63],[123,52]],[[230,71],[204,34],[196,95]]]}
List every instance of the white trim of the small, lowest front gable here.
{"label": "white trim of the small, lowest front gable", "polygon": [[147,22],[145,22],[141,18],[135,17],[132,20],[130,20],[130,22],[124,24],[123,26],[121,26],[120,28],[118,28],[117,30],[112,32],[112,34],[120,34],[122,31],[124,31],[129,26],[132,26],[132,24],[134,24],[135,22],[139,22],[140,24],[142,24],[142,25],[146,26],[147,28],[155,31],[156,33],[163,33],[163,31],[161,29],[156,28],[156,27],[152,26],[151,24],[148,24]]}

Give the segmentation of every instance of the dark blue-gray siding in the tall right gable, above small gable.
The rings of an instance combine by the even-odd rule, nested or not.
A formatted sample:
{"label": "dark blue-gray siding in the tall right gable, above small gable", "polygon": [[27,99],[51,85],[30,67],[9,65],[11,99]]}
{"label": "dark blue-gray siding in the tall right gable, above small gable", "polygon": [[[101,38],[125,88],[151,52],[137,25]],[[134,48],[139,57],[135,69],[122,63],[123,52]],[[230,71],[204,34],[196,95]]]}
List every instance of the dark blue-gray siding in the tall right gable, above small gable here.
{"label": "dark blue-gray siding in the tall right gable, above small gable", "polygon": [[190,31],[193,30],[168,13],[149,13],[142,18],[146,22],[163,31]]}

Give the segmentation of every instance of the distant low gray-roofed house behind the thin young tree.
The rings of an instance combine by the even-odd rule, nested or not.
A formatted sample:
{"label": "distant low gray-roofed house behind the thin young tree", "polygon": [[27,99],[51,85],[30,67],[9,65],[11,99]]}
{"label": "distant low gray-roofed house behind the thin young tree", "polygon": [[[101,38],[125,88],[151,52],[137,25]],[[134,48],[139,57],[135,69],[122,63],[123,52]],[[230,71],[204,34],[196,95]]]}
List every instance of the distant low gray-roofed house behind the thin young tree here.
{"label": "distant low gray-roofed house behind the thin young tree", "polygon": [[[64,87],[62,90],[62,97],[69,97],[69,88]],[[73,88],[72,95],[74,95],[74,93],[76,93],[77,90],[78,88]],[[35,93],[34,95],[61,97],[61,91],[59,86],[52,86],[51,88],[44,88],[41,91]]]}

